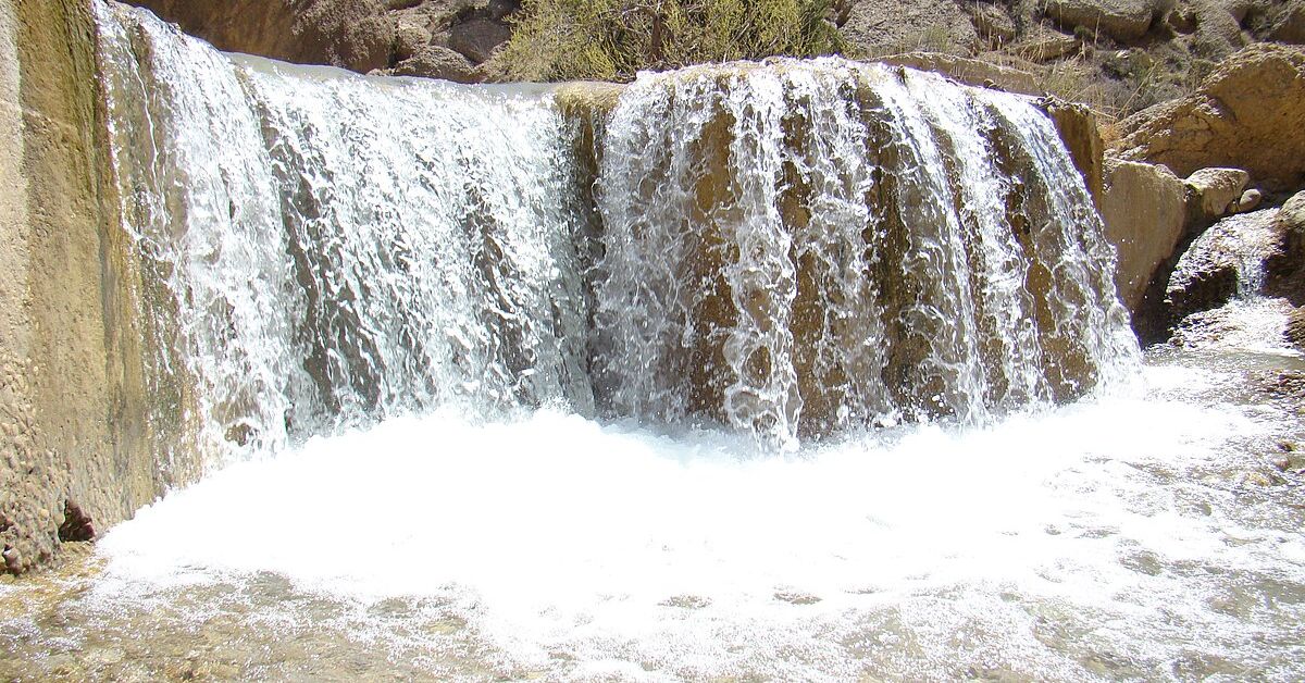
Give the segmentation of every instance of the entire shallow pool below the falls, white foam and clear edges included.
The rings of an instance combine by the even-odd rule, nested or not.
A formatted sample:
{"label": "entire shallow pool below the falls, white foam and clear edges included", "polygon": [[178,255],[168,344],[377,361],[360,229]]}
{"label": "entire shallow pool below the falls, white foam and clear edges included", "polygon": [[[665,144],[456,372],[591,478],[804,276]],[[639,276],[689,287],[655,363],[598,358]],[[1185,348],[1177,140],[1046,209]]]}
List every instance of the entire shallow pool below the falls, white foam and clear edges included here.
{"label": "entire shallow pool below the falls, white foam and clear edges included", "polygon": [[0,678],[1300,679],[1274,307],[1073,405],[782,457],[557,410],[316,439],[0,584]]}

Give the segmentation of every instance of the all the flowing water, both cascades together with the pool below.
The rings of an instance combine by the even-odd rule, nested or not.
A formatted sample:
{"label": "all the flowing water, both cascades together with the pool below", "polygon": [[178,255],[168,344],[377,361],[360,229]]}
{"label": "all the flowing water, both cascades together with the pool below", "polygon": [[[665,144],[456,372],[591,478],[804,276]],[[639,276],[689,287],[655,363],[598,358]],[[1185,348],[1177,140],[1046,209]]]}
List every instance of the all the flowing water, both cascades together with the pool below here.
{"label": "all the flowing water, both cascades together with the pool below", "polygon": [[646,74],[586,170],[548,87],[98,10],[206,475],[0,582],[0,678],[1305,678],[1282,302],[1143,358],[1028,101]]}

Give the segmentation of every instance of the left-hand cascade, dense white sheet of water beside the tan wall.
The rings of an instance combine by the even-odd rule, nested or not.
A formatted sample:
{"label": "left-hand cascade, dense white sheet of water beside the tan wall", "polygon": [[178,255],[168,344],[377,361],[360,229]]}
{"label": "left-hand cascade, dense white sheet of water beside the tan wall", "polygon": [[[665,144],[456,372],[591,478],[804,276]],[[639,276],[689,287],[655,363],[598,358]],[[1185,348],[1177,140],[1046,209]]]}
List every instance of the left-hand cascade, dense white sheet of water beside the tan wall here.
{"label": "left-hand cascade, dense white sheet of water beside the tan wall", "polygon": [[175,319],[162,366],[204,449],[591,410],[569,138],[540,93],[287,74],[99,12],[123,213],[171,295],[145,315]]}

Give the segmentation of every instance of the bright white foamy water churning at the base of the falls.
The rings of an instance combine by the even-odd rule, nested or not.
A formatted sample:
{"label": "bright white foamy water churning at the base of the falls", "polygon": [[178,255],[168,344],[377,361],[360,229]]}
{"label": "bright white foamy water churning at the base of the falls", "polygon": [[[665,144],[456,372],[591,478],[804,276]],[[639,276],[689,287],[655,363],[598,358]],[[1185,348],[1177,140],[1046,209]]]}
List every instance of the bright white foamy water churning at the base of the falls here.
{"label": "bright white foamy water churning at the base of the falls", "polygon": [[1237,576],[1305,585],[1298,530],[1240,508],[1220,474],[1274,419],[1138,390],[787,458],[553,410],[394,419],[141,511],[100,542],[97,592],[274,572],[364,606],[438,597],[508,661],[564,676],[937,675],[933,658],[972,654],[949,624],[1015,671],[1083,675],[1037,637],[1044,607],[1138,666],[1189,639],[1245,661],[1253,633],[1302,616],[1220,603]]}

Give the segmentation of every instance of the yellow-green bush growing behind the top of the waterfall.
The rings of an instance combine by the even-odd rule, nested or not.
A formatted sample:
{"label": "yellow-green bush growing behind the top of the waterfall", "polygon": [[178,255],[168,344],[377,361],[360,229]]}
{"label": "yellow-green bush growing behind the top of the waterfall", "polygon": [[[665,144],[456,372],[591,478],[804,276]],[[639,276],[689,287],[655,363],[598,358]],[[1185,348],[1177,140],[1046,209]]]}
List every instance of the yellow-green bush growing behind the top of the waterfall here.
{"label": "yellow-green bush growing behind the top of the waterfall", "polygon": [[629,81],[641,69],[831,55],[838,0],[526,0],[495,59],[513,81]]}

